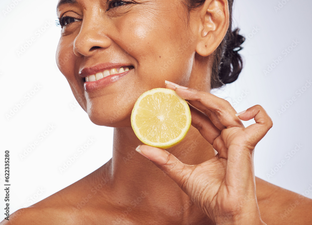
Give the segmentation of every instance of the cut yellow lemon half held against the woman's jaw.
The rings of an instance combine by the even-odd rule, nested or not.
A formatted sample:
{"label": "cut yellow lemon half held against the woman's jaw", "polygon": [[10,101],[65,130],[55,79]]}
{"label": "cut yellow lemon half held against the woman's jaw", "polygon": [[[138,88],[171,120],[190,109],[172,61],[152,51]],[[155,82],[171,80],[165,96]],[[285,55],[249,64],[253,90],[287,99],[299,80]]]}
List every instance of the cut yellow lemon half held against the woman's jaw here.
{"label": "cut yellow lemon half held against the woman's jaw", "polygon": [[131,126],[144,144],[170,148],[181,142],[190,129],[190,108],[174,90],[148,90],[134,104]]}

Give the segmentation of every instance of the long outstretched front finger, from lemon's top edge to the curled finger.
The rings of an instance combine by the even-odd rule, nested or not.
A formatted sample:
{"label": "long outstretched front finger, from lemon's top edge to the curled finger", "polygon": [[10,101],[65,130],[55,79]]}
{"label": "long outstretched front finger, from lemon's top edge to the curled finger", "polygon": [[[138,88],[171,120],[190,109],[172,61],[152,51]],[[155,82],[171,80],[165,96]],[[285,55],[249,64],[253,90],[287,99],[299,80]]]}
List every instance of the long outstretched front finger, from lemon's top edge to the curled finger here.
{"label": "long outstretched front finger, from lemon's top edge to the curled finger", "polygon": [[197,101],[201,103],[203,107],[214,112],[217,115],[218,120],[227,128],[233,126],[244,127],[241,120],[235,116],[236,111],[227,100],[193,88],[183,89],[176,86],[175,91],[181,98]]}

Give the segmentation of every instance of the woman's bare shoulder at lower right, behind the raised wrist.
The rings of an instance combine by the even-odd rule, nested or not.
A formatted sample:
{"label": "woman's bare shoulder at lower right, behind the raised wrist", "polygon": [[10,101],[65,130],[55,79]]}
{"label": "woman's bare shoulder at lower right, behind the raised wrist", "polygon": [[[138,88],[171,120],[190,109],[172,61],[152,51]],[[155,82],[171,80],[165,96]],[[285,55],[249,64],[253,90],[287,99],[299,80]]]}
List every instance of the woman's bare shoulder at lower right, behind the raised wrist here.
{"label": "woman's bare shoulder at lower right, behind the raised wrist", "polygon": [[312,224],[312,199],[256,178],[258,205],[267,224]]}

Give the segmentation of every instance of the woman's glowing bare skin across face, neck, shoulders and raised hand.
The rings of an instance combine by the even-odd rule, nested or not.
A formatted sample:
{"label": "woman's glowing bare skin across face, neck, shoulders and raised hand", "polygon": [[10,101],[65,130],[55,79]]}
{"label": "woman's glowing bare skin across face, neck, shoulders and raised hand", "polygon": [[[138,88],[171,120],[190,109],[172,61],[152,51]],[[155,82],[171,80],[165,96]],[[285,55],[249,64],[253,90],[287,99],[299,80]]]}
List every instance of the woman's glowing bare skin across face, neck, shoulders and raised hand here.
{"label": "woman's glowing bare skin across face, neck, shoulders and raised hand", "polygon": [[[253,106],[252,113],[247,109],[239,118],[247,120],[253,118],[254,114],[262,115],[257,117],[257,121],[262,123],[257,132],[247,132],[246,136],[232,106],[208,93],[213,52],[229,27],[227,0],[206,0],[202,7],[189,13],[189,21],[182,0],[131,2],[123,5],[120,1],[109,4],[105,0],[60,0],[57,9],[57,16],[63,17],[62,22],[66,22],[56,52],[57,65],[90,120],[97,125],[115,127],[112,159],[32,207],[13,213],[10,217],[12,223],[1,224],[211,225],[218,219],[223,224],[264,224],[262,220],[275,225],[310,224],[310,199],[298,197],[293,192],[258,178],[254,182],[252,148],[242,148],[246,151],[240,154],[242,157],[239,159],[245,160],[244,163],[227,161],[229,147],[226,144],[231,146],[229,136],[233,134],[235,141],[240,143],[232,145],[232,150],[241,151],[237,146],[257,143],[272,125],[263,108]],[[87,79],[95,79],[92,76],[99,72],[108,75],[106,70],[116,72],[119,67],[125,66],[132,69],[94,83],[85,82],[83,78],[89,76]],[[189,89],[165,85],[165,80]],[[167,149],[171,154],[141,145],[130,124],[131,110],[139,95],[157,87],[178,89],[177,94],[191,99],[195,107],[207,110],[201,105],[206,104],[213,109],[213,113],[208,115],[209,119],[198,110],[191,110],[193,126],[180,144]],[[202,103],[198,100],[202,100]],[[216,137],[221,136],[221,130],[232,130],[229,132],[232,133],[224,135],[223,143],[220,139],[214,143]],[[238,132],[240,135],[235,136]],[[224,133],[227,134],[227,131]],[[207,163],[217,153],[210,143],[214,144],[221,158],[216,166]],[[138,145],[152,162],[135,151]],[[103,151],[111,149],[103,146]],[[206,170],[202,170],[205,167],[196,167],[197,171],[192,174],[200,176],[193,177],[194,182],[188,180],[187,183],[183,179],[191,174],[190,168],[194,167],[183,167],[178,159],[190,165],[206,163],[207,167]],[[170,170],[166,162],[176,167]],[[227,163],[231,167],[227,167]],[[234,170],[231,169],[233,167]],[[185,176],[181,178],[178,174],[182,174],[182,169]],[[211,179],[207,179],[207,174]],[[205,180],[218,182],[211,183],[210,191],[206,188]],[[241,191],[243,195],[246,193],[248,198],[241,195],[233,198],[233,195],[226,195],[226,191],[218,192],[218,183],[223,185],[222,190],[231,189],[227,181],[236,181],[234,183],[239,188],[235,186],[232,190]],[[179,187],[183,184],[187,184],[183,188],[189,195]],[[202,192],[203,198],[198,195],[199,190],[205,191]],[[221,200],[216,204],[212,198],[216,204],[212,209],[207,202],[213,193],[217,193],[218,200]],[[198,207],[189,196],[196,197]],[[206,203],[204,207],[201,205],[202,199]],[[231,210],[237,199],[242,209],[239,212],[243,214],[214,218],[214,215],[224,215],[225,209]],[[280,213],[284,213],[290,203],[296,204],[289,217],[291,219],[280,219]],[[246,218],[253,220],[242,223],[240,219]]]}

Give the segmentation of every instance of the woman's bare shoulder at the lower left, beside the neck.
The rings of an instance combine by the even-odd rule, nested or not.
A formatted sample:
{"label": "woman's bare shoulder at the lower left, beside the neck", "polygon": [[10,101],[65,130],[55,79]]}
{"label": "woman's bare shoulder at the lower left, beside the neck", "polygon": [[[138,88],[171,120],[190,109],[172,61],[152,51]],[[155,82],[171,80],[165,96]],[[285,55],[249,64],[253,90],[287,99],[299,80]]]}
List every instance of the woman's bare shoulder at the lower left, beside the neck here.
{"label": "woman's bare shoulder at the lower left, beside the neck", "polygon": [[98,169],[40,202],[17,210],[0,225],[97,224],[95,218],[105,222],[114,212],[106,197],[109,196],[108,179],[99,173],[103,174],[103,170]]}

